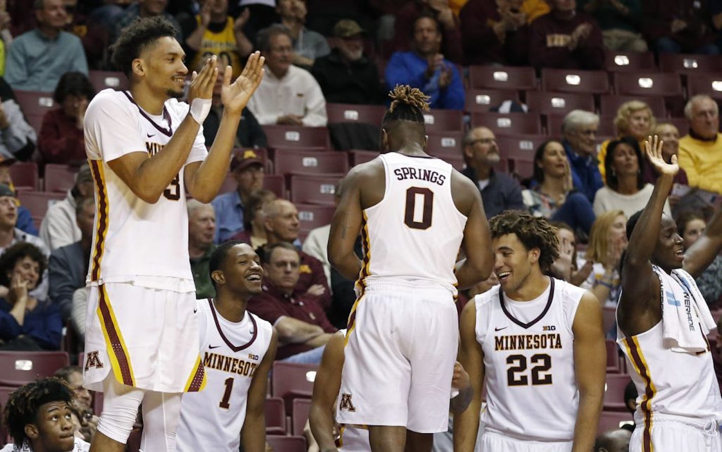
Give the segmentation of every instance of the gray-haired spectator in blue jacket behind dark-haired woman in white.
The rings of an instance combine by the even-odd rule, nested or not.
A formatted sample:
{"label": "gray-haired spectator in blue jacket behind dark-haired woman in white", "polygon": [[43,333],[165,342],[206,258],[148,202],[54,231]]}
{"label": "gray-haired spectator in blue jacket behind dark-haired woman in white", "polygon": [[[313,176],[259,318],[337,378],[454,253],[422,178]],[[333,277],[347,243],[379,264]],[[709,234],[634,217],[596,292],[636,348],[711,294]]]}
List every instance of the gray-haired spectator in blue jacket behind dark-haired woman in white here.
{"label": "gray-haired spectator in blue jacket behind dark-haired woman in white", "polygon": [[562,144],[572,170],[572,182],[589,202],[594,201],[594,194],[604,186],[596,158],[598,129],[599,116],[591,111],[571,110],[562,121]]}

